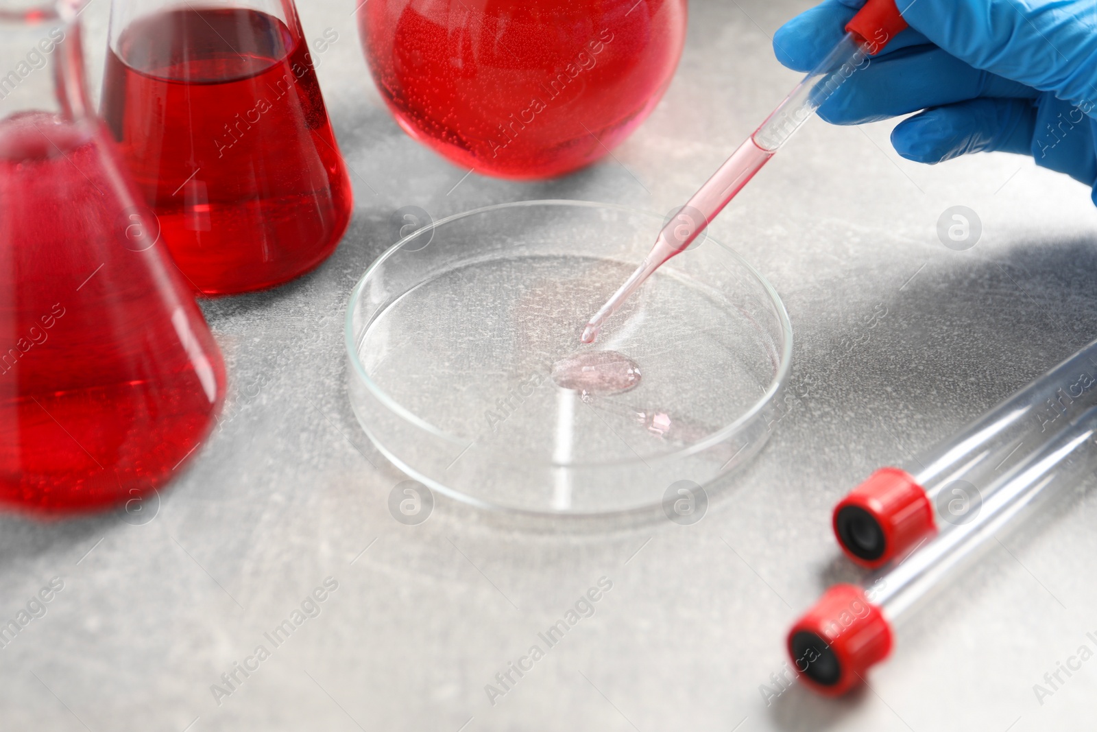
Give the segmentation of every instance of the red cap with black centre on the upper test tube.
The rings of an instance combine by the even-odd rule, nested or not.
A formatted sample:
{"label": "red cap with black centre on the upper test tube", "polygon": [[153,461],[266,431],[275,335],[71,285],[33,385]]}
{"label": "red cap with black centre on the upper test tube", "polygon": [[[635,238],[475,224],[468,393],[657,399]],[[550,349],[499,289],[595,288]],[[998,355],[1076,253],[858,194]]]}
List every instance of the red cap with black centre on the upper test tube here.
{"label": "red cap with black centre on the upper test tube", "polygon": [[[850,511],[844,509],[850,508]],[[879,554],[852,545],[850,514],[868,514],[882,533]],[[862,515],[863,516],[863,515]],[[926,537],[937,532],[934,506],[925,489],[906,472],[897,468],[881,468],[834,507],[834,536],[846,555],[861,566],[881,567],[903,556]],[[871,526],[871,525],[870,525]]]}

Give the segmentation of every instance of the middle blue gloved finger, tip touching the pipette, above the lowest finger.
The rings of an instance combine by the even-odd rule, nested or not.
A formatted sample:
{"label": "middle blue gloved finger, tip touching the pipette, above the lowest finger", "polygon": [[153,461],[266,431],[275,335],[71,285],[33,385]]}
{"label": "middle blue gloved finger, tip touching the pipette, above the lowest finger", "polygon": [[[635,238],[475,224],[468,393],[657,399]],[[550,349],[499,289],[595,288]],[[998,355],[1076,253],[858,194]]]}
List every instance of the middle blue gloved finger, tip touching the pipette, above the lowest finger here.
{"label": "middle blue gloved finger, tip touching the pipette, above the lowest finger", "polygon": [[833,124],[861,124],[969,99],[1034,99],[1038,93],[926,45],[871,59],[823,102],[818,114]]}

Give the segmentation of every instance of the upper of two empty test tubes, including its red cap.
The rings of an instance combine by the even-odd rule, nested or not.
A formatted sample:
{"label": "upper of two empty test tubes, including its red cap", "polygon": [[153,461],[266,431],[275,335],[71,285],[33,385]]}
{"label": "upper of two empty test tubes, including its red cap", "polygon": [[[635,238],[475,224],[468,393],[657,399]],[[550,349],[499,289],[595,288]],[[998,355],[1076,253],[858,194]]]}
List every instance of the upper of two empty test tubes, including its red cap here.
{"label": "upper of two empty test tubes, including its red cap", "polygon": [[966,520],[987,500],[999,469],[1044,443],[1072,417],[1097,404],[1097,340],[952,437],[909,461],[883,468],[834,509],[846,554],[878,568],[928,537]]}

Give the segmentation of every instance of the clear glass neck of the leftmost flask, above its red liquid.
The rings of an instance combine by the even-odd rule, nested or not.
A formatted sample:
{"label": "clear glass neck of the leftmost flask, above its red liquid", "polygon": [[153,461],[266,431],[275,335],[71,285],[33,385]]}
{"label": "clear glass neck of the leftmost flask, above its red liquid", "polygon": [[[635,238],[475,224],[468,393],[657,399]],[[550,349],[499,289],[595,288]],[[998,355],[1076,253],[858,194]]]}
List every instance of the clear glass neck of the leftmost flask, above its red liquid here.
{"label": "clear glass neck of the leftmost flask, above its red liquid", "polygon": [[76,0],[0,0],[0,122],[24,112],[92,116]]}

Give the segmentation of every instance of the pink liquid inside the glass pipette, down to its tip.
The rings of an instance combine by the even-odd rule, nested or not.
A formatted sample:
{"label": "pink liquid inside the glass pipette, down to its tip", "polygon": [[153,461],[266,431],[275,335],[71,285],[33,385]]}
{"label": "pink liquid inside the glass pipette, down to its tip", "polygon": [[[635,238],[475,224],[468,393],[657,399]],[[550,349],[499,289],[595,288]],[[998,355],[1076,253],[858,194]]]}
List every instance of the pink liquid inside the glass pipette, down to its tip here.
{"label": "pink liquid inside the glass pipette, down to its tip", "polygon": [[709,224],[720,215],[732,199],[750,182],[762,166],[773,157],[773,150],[759,147],[754,137],[743,143],[724,165],[701,187],[693,198],[663,227],[655,246],[644,258],[624,284],[613,293],[613,296],[602,305],[602,308],[590,318],[583,330],[581,340],[592,344],[598,338],[598,331],[614,311],[640,289],[657,269],[669,259],[690,248],[697,237]]}

